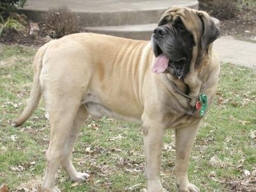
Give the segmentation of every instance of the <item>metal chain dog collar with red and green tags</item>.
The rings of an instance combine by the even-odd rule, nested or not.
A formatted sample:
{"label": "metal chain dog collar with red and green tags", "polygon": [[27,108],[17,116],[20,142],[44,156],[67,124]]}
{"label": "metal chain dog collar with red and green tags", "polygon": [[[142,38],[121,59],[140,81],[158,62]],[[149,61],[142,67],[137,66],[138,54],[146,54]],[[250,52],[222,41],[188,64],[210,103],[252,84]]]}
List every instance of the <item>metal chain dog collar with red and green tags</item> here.
{"label": "metal chain dog collar with red and green tags", "polygon": [[180,93],[180,95],[182,95],[183,97],[186,97],[188,99],[197,100],[195,108],[197,111],[199,111],[200,116],[204,116],[205,111],[207,109],[207,95],[204,94],[204,91],[209,83],[209,79],[211,78],[211,75],[212,75],[212,73],[209,74],[208,79],[205,83],[205,86],[204,86],[202,92],[200,92],[197,97],[192,97],[192,96],[186,95],[185,93],[183,93],[182,91],[179,90],[177,85],[172,80],[170,80],[172,87],[174,88],[174,90],[176,90],[178,93]]}

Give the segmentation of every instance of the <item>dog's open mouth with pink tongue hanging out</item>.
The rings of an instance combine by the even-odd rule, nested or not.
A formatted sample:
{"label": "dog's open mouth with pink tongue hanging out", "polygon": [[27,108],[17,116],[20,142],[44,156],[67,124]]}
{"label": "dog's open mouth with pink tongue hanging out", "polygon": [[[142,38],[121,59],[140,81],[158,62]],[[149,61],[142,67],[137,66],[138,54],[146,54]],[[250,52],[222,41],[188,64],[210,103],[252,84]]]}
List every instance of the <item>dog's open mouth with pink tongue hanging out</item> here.
{"label": "dog's open mouth with pink tongue hanging out", "polygon": [[186,58],[180,58],[178,60],[167,58],[166,54],[164,54],[157,42],[155,42],[153,45],[156,60],[154,61],[152,72],[160,74],[168,71],[172,76],[176,76],[178,79],[180,79],[184,75]]}

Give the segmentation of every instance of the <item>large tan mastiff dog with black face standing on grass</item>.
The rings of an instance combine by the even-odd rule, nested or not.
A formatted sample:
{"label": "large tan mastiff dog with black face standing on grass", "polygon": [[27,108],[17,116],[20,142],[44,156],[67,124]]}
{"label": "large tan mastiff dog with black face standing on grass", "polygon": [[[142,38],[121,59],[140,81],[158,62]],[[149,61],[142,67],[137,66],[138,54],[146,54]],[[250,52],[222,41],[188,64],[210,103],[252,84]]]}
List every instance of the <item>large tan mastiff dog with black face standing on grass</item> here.
{"label": "large tan mastiff dog with black face standing on grass", "polygon": [[219,35],[218,24],[207,13],[171,8],[151,43],[78,33],[41,47],[28,104],[15,125],[31,116],[43,94],[51,124],[43,191],[60,191],[55,186],[59,164],[74,181],[88,177],[71,161],[88,115],[142,125],[148,192],[165,191],[160,181],[163,135],[165,129],[175,129],[177,188],[199,191],[188,181],[189,154],[205,104],[211,104],[216,92],[220,63],[212,42]]}

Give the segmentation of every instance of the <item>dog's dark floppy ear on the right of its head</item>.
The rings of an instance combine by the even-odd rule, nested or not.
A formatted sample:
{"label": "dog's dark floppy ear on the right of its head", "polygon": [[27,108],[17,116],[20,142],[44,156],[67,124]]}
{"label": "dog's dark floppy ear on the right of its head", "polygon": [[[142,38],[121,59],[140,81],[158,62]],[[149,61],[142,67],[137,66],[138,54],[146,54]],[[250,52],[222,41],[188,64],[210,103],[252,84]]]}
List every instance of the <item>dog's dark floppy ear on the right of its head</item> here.
{"label": "dog's dark floppy ear on the right of its head", "polygon": [[220,36],[220,20],[210,17],[205,12],[198,12],[197,15],[200,17],[203,24],[201,46],[202,49],[206,50],[208,45]]}

